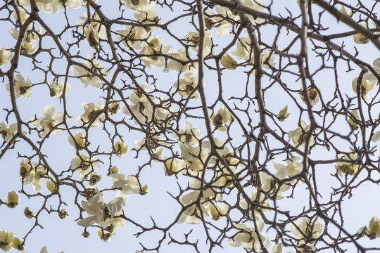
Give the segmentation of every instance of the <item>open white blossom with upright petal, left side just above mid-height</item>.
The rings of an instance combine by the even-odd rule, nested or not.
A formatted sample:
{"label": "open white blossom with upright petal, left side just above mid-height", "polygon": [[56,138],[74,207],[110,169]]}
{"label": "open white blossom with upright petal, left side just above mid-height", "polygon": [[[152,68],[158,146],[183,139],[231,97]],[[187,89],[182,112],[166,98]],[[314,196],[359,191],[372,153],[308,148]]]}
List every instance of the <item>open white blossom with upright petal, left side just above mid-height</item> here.
{"label": "open white blossom with upright petal, left side just above mid-height", "polygon": [[47,105],[44,108],[44,117],[32,117],[33,126],[39,128],[39,134],[41,136],[46,136],[50,131],[53,134],[61,134],[63,132],[62,129],[56,128],[58,124],[63,122],[63,112],[59,112],[56,114],[56,108],[53,105]]}

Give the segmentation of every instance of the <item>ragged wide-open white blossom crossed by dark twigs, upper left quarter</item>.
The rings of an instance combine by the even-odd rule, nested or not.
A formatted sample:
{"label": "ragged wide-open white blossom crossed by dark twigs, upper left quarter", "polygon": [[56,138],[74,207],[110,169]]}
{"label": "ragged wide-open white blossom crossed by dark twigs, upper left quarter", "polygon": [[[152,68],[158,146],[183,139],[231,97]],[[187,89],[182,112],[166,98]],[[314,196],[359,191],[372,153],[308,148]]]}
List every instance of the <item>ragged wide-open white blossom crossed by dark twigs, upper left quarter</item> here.
{"label": "ragged wide-open white blossom crossed by dark twigs, upper left quarter", "polygon": [[100,89],[103,86],[101,77],[104,79],[108,77],[108,67],[103,67],[100,63],[96,63],[94,56],[88,55],[86,58],[87,60],[83,63],[83,65],[88,67],[90,71],[87,71],[78,65],[74,65],[71,67],[71,72],[75,76],[80,77],[80,81],[82,81],[84,87],[87,88],[91,85]]}

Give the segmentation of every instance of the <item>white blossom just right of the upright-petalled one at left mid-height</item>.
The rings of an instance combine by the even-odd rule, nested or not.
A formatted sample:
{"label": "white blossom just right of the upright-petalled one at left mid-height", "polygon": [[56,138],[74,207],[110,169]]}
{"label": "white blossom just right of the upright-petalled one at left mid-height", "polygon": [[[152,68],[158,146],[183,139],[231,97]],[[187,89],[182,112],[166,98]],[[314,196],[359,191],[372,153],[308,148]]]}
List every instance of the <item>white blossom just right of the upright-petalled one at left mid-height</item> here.
{"label": "white blossom just right of the upright-petalled one at left mid-height", "polygon": [[84,114],[78,116],[75,121],[78,124],[90,124],[91,127],[99,126],[100,122],[104,120],[103,108],[104,105],[101,102],[95,103],[82,103],[84,108]]}

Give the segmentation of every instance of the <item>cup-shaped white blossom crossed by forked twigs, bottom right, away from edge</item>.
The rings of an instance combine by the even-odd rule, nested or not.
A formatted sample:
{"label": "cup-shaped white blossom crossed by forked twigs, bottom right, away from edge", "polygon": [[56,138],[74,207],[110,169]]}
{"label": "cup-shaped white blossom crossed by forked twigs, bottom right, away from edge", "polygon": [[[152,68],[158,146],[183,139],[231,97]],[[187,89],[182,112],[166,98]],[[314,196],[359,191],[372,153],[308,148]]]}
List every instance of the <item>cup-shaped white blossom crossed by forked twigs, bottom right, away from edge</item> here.
{"label": "cup-shaped white blossom crossed by forked twigs, bottom right, away from edge", "polygon": [[323,225],[317,219],[310,220],[308,217],[303,217],[298,223],[291,223],[290,228],[291,233],[297,238],[310,240],[319,238]]}

